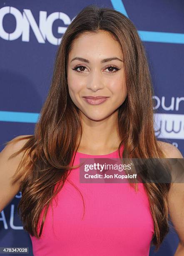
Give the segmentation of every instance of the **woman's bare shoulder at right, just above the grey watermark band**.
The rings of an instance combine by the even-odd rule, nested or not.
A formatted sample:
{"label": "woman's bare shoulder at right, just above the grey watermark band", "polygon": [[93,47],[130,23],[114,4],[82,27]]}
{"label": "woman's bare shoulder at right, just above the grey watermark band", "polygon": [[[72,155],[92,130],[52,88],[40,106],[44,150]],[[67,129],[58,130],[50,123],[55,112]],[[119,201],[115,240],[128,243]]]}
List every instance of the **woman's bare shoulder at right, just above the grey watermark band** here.
{"label": "woman's bare shoulder at right, just above the grey watermark band", "polygon": [[183,158],[182,153],[174,145],[164,141],[157,141],[157,143],[164,151],[166,158]]}

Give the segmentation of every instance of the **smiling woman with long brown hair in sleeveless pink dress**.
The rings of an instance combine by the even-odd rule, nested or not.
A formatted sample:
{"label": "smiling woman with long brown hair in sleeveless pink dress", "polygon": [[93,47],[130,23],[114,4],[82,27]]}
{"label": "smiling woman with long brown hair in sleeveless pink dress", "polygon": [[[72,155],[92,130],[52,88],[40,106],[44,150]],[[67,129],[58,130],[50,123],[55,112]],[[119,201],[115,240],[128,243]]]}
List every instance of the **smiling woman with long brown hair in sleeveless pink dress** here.
{"label": "smiling woman with long brown hair in sleeveless pink dress", "polygon": [[181,240],[175,255],[183,255],[182,184],[85,184],[76,169],[80,158],[182,158],[155,138],[152,96],[132,22],[116,10],[84,8],[62,37],[34,135],[1,152],[0,209],[22,191],[34,255],[146,256],[167,235],[168,213]]}

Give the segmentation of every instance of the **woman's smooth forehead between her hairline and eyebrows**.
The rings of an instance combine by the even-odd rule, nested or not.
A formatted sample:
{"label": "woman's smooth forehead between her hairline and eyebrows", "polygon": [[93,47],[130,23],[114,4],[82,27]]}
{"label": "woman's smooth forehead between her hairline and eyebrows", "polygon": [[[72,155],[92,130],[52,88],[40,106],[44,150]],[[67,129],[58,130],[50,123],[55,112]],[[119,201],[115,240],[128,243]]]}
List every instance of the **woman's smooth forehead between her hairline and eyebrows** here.
{"label": "woman's smooth forehead between her hairline and eyebrows", "polygon": [[123,52],[119,42],[110,32],[85,32],[72,42],[69,59],[75,56],[99,57],[99,59],[102,59],[103,57],[112,56],[122,57]]}

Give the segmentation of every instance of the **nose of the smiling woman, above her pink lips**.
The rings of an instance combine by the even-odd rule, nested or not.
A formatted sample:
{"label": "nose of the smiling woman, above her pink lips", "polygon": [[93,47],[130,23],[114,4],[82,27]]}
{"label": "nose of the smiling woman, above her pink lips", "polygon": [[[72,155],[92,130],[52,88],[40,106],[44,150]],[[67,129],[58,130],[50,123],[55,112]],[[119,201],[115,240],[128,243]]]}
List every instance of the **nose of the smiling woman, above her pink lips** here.
{"label": "nose of the smiling woman, above her pink lips", "polygon": [[96,92],[99,89],[104,88],[101,72],[94,71],[88,76],[87,89]]}

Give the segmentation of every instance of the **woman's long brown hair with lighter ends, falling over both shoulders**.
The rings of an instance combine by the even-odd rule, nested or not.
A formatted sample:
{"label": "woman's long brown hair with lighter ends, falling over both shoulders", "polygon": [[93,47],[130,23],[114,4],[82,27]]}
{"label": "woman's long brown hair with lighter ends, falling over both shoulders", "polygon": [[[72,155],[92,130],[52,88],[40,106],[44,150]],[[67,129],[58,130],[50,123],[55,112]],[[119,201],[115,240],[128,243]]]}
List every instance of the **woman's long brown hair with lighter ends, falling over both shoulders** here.
{"label": "woman's long brown hair with lighter ends, falling over both shoulders", "polygon": [[[80,145],[82,125],[79,109],[67,87],[67,59],[72,43],[81,33],[109,31],[124,54],[127,98],[119,107],[119,136],[124,145],[122,158],[165,158],[154,133],[153,88],[142,41],[134,24],[122,13],[90,5],[81,10],[68,26],[57,51],[50,91],[35,125],[34,135],[11,157],[24,152],[13,183],[24,177],[18,205],[23,227],[39,238],[53,198],[71,172],[72,156]],[[79,139],[79,140],[78,140]],[[120,153],[119,153],[120,156]],[[26,161],[26,164],[25,164]],[[72,163],[73,164],[73,163]],[[20,167],[24,166],[24,172]],[[21,169],[22,170],[22,169]],[[25,170],[27,170],[25,172]],[[57,184],[57,186],[56,186]],[[167,195],[170,183],[145,183],[154,220],[152,243],[159,249],[169,232]],[[45,207],[40,233],[37,225]]]}

